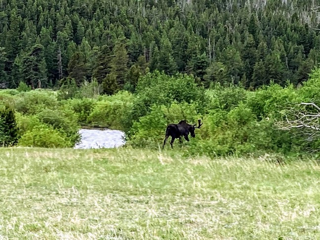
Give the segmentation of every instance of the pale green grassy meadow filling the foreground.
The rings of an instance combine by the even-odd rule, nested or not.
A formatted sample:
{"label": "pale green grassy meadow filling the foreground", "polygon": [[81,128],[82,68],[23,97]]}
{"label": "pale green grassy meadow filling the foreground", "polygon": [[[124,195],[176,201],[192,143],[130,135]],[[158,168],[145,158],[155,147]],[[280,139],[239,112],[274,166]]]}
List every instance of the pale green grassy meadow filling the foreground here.
{"label": "pale green grassy meadow filling the foreground", "polygon": [[320,166],[0,149],[0,239],[320,239]]}

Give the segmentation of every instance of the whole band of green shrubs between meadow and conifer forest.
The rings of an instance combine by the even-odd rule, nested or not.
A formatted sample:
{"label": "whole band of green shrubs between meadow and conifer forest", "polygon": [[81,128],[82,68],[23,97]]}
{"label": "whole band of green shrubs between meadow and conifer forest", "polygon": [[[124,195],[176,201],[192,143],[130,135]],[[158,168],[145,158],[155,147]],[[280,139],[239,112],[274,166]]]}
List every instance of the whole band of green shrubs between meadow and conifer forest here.
{"label": "whole band of green shrubs between meadow and conifer forest", "polygon": [[256,91],[219,83],[204,89],[192,76],[168,76],[157,71],[140,77],[135,93],[100,95],[99,85],[95,84],[80,88],[70,84],[70,88],[59,91],[30,90],[21,84],[16,90],[0,91],[0,109],[11,111],[11,119],[15,111],[17,129],[11,142],[5,140],[10,133],[3,123],[4,115],[0,115],[1,142],[72,147],[80,139],[80,125],[86,125],[123,130],[127,145],[158,149],[168,123],[196,123],[202,119],[204,124],[197,129],[196,138],[182,145],[177,143],[175,148],[182,148],[187,154],[214,156],[287,154],[319,148],[319,141],[302,145],[294,131],[281,131],[275,126],[292,103],[319,99],[319,69],[300,88],[271,83]]}

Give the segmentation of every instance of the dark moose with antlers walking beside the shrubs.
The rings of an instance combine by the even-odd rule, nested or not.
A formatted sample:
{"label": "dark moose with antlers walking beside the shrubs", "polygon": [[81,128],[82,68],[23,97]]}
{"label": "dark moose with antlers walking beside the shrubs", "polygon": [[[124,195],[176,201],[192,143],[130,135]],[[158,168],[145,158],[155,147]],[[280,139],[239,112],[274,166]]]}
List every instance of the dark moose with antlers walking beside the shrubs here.
{"label": "dark moose with antlers walking beside the shrubs", "polygon": [[162,149],[164,148],[164,145],[166,143],[166,140],[168,139],[169,136],[171,136],[171,148],[173,148],[173,142],[176,138],[179,138],[180,143],[182,142],[182,137],[186,139],[188,142],[189,140],[189,133],[191,133],[191,137],[196,137],[195,134],[195,129],[196,128],[201,128],[201,120],[198,120],[198,126],[196,127],[196,124],[189,124],[187,123],[186,120],[181,120],[178,124],[169,124],[166,129],[165,129],[165,138],[163,141],[163,146]]}

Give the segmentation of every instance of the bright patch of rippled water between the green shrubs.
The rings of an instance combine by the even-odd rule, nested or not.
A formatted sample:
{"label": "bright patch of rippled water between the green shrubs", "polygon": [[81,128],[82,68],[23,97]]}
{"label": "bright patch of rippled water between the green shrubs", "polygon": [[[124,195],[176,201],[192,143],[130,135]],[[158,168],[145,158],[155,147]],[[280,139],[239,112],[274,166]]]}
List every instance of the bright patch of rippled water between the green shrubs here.
{"label": "bright patch of rippled water between the green shrubs", "polygon": [[80,129],[81,141],[76,149],[116,148],[125,142],[122,139],[124,132],[110,129]]}

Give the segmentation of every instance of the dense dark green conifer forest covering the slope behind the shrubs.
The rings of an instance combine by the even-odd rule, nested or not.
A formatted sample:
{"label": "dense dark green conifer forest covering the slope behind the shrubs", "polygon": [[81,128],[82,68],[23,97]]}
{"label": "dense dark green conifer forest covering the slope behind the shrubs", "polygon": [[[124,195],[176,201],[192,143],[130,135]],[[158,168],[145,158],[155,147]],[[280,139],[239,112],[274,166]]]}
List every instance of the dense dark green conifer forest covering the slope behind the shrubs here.
{"label": "dense dark green conifer forest covering the slope behind the shrubs", "polygon": [[[294,85],[320,62],[313,0],[1,0],[0,87],[97,80],[134,91],[148,71],[246,88]],[[320,10],[320,9],[319,9]]]}

